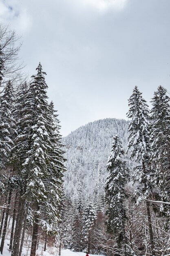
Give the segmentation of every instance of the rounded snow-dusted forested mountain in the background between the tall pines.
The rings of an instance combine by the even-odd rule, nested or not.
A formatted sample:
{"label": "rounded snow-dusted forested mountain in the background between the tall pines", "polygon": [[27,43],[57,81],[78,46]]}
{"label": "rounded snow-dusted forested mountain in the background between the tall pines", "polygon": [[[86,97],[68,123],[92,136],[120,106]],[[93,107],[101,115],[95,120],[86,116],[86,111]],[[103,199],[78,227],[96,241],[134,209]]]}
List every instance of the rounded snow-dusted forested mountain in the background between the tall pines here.
{"label": "rounded snow-dusted forested mountain in the background between the tall pines", "polygon": [[62,139],[68,170],[65,173],[66,194],[75,199],[79,187],[84,198],[104,193],[106,162],[116,134],[126,151],[128,121],[124,119],[106,118],[90,122]]}

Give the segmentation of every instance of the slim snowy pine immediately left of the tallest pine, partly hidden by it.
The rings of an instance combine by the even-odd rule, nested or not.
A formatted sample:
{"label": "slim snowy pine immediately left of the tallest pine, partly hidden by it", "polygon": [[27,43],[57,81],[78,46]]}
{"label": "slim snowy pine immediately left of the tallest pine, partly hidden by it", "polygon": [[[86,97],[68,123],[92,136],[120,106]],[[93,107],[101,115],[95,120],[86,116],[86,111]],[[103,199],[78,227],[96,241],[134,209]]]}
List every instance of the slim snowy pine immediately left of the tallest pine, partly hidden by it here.
{"label": "slim snowy pine immediately left of the tallest pine, partly hidden by it", "polygon": [[[19,245],[20,245],[20,235],[22,231],[22,219],[26,219],[26,209],[29,207],[29,202],[26,202],[26,198],[24,197],[24,192],[26,189],[26,175],[23,173],[23,162],[22,160],[25,157],[25,153],[28,146],[28,141],[26,141],[25,128],[29,126],[28,122],[28,111],[29,105],[27,103],[26,97],[28,94],[29,86],[27,83],[23,83],[19,86],[16,91],[15,97],[15,108],[13,111],[13,117],[15,119],[16,133],[17,136],[14,139],[14,147],[11,151],[11,165],[13,167],[13,172],[15,173],[18,179],[18,188],[16,193],[16,201],[19,201],[20,207],[15,209],[13,213],[13,223],[12,223],[12,231],[11,231],[11,240],[9,249],[12,250],[12,255],[18,256],[19,253]],[[25,207],[26,206],[26,207]],[[15,215],[16,223],[15,223]],[[15,231],[14,231],[15,224]],[[25,224],[24,224],[25,225]],[[14,236],[13,236],[14,233]],[[24,229],[23,229],[24,233]],[[22,243],[20,246],[20,250],[22,249]]]}

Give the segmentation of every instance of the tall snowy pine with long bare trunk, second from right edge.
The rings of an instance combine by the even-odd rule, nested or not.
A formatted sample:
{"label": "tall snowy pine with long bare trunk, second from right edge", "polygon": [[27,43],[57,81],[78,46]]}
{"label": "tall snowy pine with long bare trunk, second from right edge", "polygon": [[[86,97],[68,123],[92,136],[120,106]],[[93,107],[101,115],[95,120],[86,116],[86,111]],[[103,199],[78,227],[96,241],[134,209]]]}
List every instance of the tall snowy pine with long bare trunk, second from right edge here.
{"label": "tall snowy pine with long bare trunk, second from right edge", "polygon": [[[129,122],[129,143],[130,157],[135,158],[137,166],[135,167],[135,181],[139,182],[136,194],[148,198],[151,193],[150,184],[150,166],[149,166],[149,110],[146,100],[142,97],[137,86],[135,86],[132,95],[128,100],[129,111],[127,113]],[[150,234],[150,246],[152,255],[154,255],[154,241],[150,217],[150,204],[146,201],[148,216],[148,227]]]}

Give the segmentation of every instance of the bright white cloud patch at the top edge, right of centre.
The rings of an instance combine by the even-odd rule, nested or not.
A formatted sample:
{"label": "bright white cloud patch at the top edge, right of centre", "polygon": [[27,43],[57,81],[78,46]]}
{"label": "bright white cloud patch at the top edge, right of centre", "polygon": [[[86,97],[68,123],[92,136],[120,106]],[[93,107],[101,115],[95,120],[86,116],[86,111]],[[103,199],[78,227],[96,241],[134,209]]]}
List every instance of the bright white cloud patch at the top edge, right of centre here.
{"label": "bright white cloud patch at the top edge, right of centre", "polygon": [[81,0],[83,4],[90,5],[101,11],[105,11],[109,8],[123,9],[127,0]]}

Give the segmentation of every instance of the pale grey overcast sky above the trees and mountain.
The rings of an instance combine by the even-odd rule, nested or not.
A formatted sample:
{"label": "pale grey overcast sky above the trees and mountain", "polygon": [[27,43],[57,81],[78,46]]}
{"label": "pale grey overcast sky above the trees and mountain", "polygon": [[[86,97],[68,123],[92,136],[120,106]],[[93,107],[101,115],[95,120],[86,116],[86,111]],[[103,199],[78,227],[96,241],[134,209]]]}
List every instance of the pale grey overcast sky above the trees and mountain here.
{"label": "pale grey overcast sky above the trees and mountain", "polygon": [[126,118],[135,85],[147,101],[170,92],[170,0],[0,0],[0,20],[22,34],[30,76],[42,63],[62,135]]}

